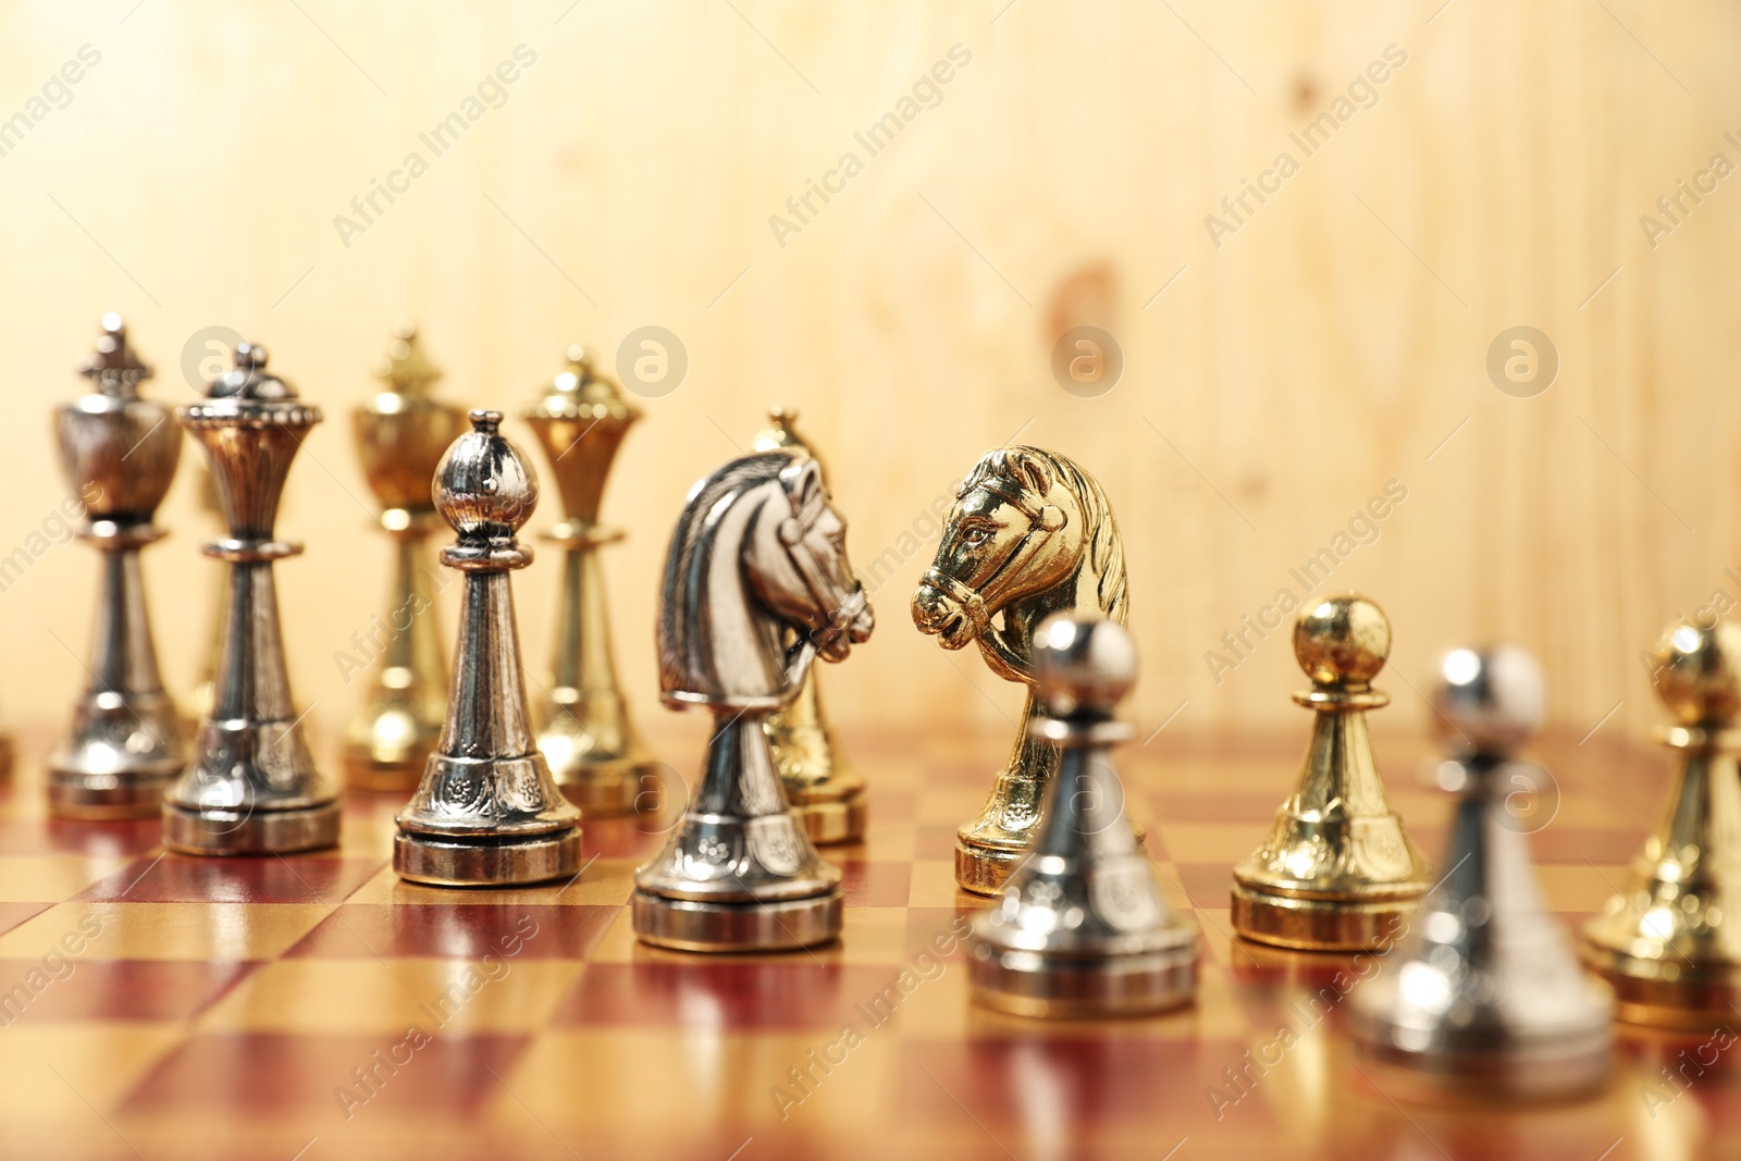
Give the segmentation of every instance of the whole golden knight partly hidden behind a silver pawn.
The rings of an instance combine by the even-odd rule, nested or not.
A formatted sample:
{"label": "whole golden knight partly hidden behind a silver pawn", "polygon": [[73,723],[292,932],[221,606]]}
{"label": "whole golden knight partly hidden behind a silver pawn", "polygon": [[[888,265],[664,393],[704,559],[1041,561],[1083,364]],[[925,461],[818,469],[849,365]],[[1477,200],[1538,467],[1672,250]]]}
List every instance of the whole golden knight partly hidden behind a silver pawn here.
{"label": "whole golden knight partly hidden behind a silver pawn", "polygon": [[[998,447],[956,493],[912,621],[945,649],[973,642],[991,672],[1027,686],[1015,747],[985,811],[956,834],[956,882],[996,895],[1045,822],[1059,748],[1034,735],[1034,630],[1053,613],[1125,623],[1125,545],[1100,486],[1064,456]],[[1003,614],[1003,628],[992,618]],[[1140,830],[1139,842],[1140,842]]]}

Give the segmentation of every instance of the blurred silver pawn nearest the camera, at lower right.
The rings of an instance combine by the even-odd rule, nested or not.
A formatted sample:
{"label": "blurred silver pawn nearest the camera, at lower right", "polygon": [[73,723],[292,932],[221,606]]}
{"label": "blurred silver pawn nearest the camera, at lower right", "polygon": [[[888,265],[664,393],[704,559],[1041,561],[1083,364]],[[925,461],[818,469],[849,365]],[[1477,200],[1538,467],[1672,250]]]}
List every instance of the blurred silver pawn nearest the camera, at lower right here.
{"label": "blurred silver pawn nearest the camera, at lower right", "polygon": [[1588,978],[1541,898],[1508,801],[1539,782],[1513,761],[1543,721],[1543,675],[1513,646],[1438,665],[1433,721],[1457,794],[1445,877],[1402,945],[1354,989],[1351,1032],[1381,1088],[1417,1100],[1558,1100],[1609,1074],[1612,996]]}

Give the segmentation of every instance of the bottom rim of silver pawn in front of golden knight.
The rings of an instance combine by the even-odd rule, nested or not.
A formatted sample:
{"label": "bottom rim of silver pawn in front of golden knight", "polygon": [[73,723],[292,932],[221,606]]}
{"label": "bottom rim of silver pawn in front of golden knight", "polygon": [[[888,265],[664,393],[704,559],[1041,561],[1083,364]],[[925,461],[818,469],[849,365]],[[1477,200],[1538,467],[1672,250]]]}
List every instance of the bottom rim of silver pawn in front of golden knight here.
{"label": "bottom rim of silver pawn in front of golden knight", "polygon": [[1173,950],[1111,959],[1065,959],[975,943],[968,983],[977,1003],[1017,1017],[1139,1017],[1189,1004],[1196,994],[1196,961],[1194,938]]}

